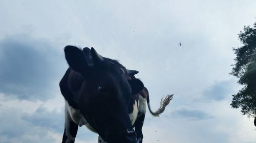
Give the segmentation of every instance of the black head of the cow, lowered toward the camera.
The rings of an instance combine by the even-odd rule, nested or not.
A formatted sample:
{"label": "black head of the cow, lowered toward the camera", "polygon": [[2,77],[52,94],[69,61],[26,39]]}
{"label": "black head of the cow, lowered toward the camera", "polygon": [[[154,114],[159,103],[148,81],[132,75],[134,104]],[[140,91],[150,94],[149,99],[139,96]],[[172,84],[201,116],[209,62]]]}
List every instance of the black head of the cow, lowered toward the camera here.
{"label": "black head of the cow, lowered toward the camera", "polygon": [[139,79],[127,80],[132,71],[115,60],[103,58],[94,48],[91,55],[93,66],[88,65],[82,50],[65,47],[69,66],[84,78],[78,93],[82,115],[107,142],[136,142],[127,106],[130,97],[144,88],[143,83]]}

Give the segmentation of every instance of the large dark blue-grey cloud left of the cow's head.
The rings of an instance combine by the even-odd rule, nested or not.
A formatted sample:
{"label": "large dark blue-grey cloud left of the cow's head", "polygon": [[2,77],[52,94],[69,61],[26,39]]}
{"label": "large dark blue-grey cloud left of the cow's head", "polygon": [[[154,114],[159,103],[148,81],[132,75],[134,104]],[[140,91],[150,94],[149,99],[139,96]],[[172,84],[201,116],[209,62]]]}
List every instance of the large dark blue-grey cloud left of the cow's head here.
{"label": "large dark blue-grey cloud left of the cow's head", "polygon": [[46,39],[6,36],[0,41],[0,92],[24,100],[45,101],[57,87],[65,61]]}

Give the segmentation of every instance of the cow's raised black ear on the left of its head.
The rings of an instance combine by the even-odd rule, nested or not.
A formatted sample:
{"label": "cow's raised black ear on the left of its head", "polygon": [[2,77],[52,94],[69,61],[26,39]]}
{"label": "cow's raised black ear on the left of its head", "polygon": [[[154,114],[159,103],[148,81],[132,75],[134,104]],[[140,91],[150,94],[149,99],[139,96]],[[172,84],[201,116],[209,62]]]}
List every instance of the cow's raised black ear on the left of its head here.
{"label": "cow's raised black ear on the left of its head", "polygon": [[65,58],[71,69],[83,73],[87,70],[88,65],[86,62],[86,57],[81,49],[75,46],[66,46],[65,49]]}

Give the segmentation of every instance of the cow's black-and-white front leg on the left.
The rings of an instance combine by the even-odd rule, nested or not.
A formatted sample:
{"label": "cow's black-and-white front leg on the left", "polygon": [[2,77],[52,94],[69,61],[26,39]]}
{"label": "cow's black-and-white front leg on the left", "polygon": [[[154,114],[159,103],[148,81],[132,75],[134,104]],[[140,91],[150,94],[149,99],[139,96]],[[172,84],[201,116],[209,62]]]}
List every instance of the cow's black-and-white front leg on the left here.
{"label": "cow's black-and-white front leg on the left", "polygon": [[65,130],[62,137],[62,143],[74,143],[78,125],[72,121],[67,108],[65,110]]}

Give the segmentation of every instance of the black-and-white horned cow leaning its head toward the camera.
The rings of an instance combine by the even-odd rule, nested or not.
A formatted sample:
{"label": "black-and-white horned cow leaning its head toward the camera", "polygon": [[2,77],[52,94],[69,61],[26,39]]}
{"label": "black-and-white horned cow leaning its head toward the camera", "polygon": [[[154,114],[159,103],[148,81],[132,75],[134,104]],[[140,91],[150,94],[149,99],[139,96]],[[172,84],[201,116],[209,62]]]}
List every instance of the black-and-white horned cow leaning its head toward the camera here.
{"label": "black-and-white horned cow leaning its head toward the camera", "polygon": [[172,99],[161,100],[153,112],[148,91],[134,75],[116,60],[104,58],[94,48],[66,46],[68,70],[59,82],[65,98],[65,130],[62,143],[75,141],[78,126],[98,133],[98,142],[142,142],[146,102],[153,116],[159,116]]}

